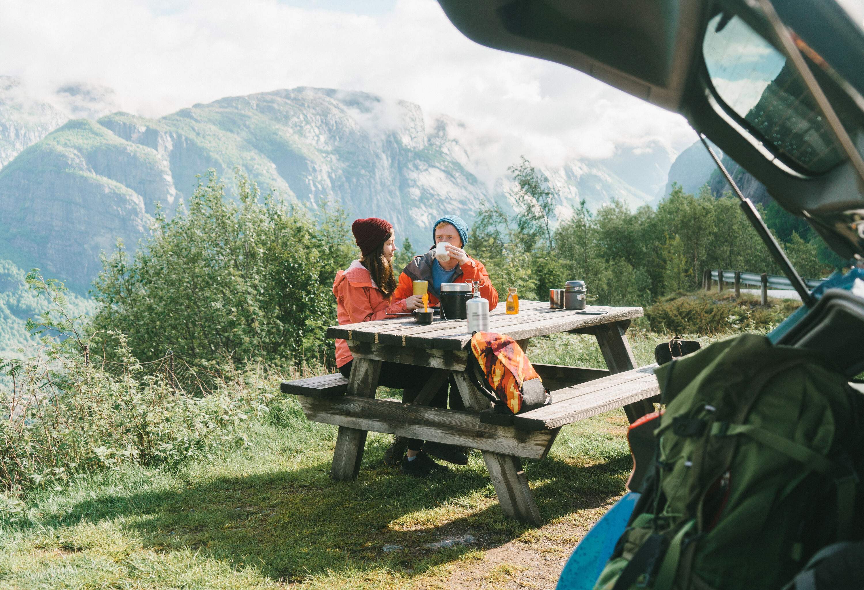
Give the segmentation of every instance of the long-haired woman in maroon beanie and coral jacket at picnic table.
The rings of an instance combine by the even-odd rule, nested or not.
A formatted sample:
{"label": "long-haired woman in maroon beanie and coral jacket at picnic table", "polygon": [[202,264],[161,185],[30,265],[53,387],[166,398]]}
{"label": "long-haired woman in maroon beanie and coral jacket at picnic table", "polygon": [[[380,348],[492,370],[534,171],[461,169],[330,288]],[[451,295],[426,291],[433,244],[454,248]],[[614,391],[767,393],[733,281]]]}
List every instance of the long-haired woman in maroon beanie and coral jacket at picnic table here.
{"label": "long-haired woman in maroon beanie and coral jacket at picnic table", "polygon": [[[396,290],[396,277],[391,266],[396,253],[393,225],[385,219],[371,217],[357,219],[351,225],[354,239],[360,249],[359,260],[346,270],[336,273],[333,294],[336,296],[336,317],[340,324],[360,321],[384,320],[387,314],[403,314],[422,308],[420,295],[410,295],[401,301],[391,301]],[[351,373],[353,356],[344,339],[336,340],[336,366],[345,377]],[[412,401],[429,381],[432,369],[414,365],[384,362],[378,385],[403,390],[403,402]],[[430,406],[447,407],[448,384],[438,390]],[[408,441],[408,453],[399,466],[402,473],[425,477],[446,467],[435,463],[421,450],[423,441]]]}

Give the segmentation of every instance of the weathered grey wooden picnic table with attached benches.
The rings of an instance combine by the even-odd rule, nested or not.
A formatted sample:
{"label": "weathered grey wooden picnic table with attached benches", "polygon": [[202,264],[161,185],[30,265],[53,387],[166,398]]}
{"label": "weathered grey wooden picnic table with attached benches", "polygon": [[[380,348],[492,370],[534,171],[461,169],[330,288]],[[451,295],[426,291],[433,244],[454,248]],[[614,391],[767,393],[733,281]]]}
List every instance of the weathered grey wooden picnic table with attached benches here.
{"label": "weathered grey wooden picnic table with attached benches", "polygon": [[[489,331],[505,333],[523,349],[530,338],[552,333],[594,335],[607,369],[534,364],[552,391],[552,403],[518,416],[494,414],[491,403],[468,379],[471,334],[465,320],[435,320],[421,326],[410,317],[334,326],[327,336],[348,341],[354,362],[350,377],[339,373],[282,384],[297,396],[308,420],[339,426],[333,479],[354,479],[363,458],[366,433],[436,441],[479,449],[505,513],[539,524],[520,458],[543,459],[562,426],[623,407],[630,422],[653,411],[658,396],[654,365],[635,368],[626,330],[642,308],[588,306],[601,314],[550,309],[541,301],[521,301],[520,312],[505,314],[501,303],[490,314]],[[530,355],[529,355],[530,356]],[[433,377],[413,403],[375,399],[383,361],[434,367]],[[430,408],[426,404],[450,377],[466,409]]]}

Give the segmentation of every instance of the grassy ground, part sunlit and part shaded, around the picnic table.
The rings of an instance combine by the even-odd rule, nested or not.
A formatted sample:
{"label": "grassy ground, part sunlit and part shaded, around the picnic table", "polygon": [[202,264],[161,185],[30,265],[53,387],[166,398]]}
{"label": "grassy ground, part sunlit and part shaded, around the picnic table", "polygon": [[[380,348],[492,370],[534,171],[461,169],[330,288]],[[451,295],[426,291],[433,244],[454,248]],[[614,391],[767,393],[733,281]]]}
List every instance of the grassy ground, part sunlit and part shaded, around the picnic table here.
{"label": "grassy ground, part sunlit and part shaded, around the picnic table", "polygon": [[[640,365],[660,340],[632,329]],[[604,366],[587,336],[534,339],[530,357]],[[546,522],[531,528],[504,517],[480,454],[417,481],[383,466],[391,437],[371,434],[359,479],[331,481],[336,428],[282,399],[245,448],[31,494],[22,517],[0,521],[0,587],[551,588],[624,491],[626,423],[621,410],[576,423],[524,461]],[[465,544],[430,545],[454,538]]]}

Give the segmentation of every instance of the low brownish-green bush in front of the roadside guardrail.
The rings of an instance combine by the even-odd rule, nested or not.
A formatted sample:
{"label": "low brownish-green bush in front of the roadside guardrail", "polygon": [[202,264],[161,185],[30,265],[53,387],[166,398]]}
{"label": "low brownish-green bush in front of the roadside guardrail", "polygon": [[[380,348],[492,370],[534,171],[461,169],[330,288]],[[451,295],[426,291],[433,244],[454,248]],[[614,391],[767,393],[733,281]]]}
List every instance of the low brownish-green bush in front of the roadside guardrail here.
{"label": "low brownish-green bush in front of the roadside guardrail", "polygon": [[800,307],[799,301],[770,299],[763,308],[753,295],[715,297],[707,293],[670,295],[645,309],[656,333],[711,335],[729,332],[765,332]]}

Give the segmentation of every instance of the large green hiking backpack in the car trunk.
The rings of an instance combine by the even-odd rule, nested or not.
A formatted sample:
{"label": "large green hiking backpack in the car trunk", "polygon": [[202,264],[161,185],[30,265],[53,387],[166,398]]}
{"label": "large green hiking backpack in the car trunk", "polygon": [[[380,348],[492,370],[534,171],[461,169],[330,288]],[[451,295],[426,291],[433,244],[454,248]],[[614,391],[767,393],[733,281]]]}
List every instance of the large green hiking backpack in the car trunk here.
{"label": "large green hiking backpack in the car trunk", "polygon": [[822,357],[744,334],[657,376],[653,464],[594,590],[781,588],[861,536],[861,395]]}

